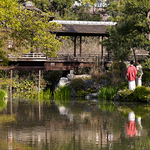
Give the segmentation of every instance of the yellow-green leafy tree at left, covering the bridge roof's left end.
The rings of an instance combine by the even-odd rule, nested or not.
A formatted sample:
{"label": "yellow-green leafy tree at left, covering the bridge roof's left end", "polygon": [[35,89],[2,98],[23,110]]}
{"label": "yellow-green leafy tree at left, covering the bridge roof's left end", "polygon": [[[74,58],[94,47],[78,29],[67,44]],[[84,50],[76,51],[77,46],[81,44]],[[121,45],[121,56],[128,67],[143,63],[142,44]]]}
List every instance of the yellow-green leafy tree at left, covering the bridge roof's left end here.
{"label": "yellow-green leafy tree at left, covering the bridge roof's left end", "polygon": [[[0,0],[0,10],[1,58],[10,52],[17,55],[37,50],[49,57],[56,55],[60,42],[52,32],[60,26],[49,23],[48,14],[26,10],[17,0]],[[8,40],[12,42],[9,50]]]}

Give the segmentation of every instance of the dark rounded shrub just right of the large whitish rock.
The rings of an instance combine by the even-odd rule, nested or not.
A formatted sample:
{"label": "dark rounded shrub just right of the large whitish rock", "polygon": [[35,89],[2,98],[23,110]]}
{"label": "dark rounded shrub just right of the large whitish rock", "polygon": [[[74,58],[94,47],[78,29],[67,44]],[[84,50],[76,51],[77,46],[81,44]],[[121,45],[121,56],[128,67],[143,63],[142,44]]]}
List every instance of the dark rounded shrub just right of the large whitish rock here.
{"label": "dark rounded shrub just right of the large whitish rock", "polygon": [[81,78],[75,78],[71,80],[70,86],[77,92],[83,90],[85,85],[84,81]]}

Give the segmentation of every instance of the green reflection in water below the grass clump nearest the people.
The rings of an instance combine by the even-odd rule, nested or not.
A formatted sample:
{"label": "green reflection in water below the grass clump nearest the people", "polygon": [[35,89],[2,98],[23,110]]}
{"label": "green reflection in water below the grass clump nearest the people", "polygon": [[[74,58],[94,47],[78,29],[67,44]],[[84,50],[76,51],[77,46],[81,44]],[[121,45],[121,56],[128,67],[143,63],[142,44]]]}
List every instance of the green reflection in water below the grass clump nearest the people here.
{"label": "green reflection in water below the grass clump nearest the people", "polygon": [[99,108],[103,111],[115,112],[118,111],[116,105],[113,102],[102,101],[99,103]]}

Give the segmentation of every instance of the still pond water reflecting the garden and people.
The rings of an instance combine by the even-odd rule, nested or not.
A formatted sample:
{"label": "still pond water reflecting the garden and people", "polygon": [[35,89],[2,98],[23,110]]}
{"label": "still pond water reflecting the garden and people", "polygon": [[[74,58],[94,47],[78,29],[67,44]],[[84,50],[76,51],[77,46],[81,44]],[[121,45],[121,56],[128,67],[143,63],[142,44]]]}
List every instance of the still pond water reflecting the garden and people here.
{"label": "still pond water reflecting the garden and people", "polygon": [[0,150],[109,149],[150,149],[150,105],[77,100],[0,102]]}

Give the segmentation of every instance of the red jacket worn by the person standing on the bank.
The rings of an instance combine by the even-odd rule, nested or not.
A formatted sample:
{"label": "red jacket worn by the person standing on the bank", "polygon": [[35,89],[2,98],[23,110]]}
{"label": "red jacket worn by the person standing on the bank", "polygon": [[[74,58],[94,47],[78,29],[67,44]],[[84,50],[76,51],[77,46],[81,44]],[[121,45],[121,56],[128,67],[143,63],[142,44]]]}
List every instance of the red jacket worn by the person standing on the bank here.
{"label": "red jacket worn by the person standing on the bank", "polygon": [[128,81],[134,81],[137,78],[136,74],[137,74],[137,70],[135,66],[133,65],[129,66],[126,73]]}

